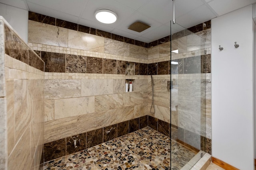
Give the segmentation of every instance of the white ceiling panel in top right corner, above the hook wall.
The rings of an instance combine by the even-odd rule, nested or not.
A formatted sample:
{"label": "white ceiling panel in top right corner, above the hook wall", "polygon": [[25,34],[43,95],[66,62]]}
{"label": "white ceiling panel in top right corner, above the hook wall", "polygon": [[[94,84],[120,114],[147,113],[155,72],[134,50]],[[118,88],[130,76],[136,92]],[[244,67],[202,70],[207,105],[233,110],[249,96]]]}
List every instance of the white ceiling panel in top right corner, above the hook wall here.
{"label": "white ceiling panel in top right corner, above the hook wall", "polygon": [[208,4],[221,16],[253,3],[256,3],[256,0],[213,0]]}

